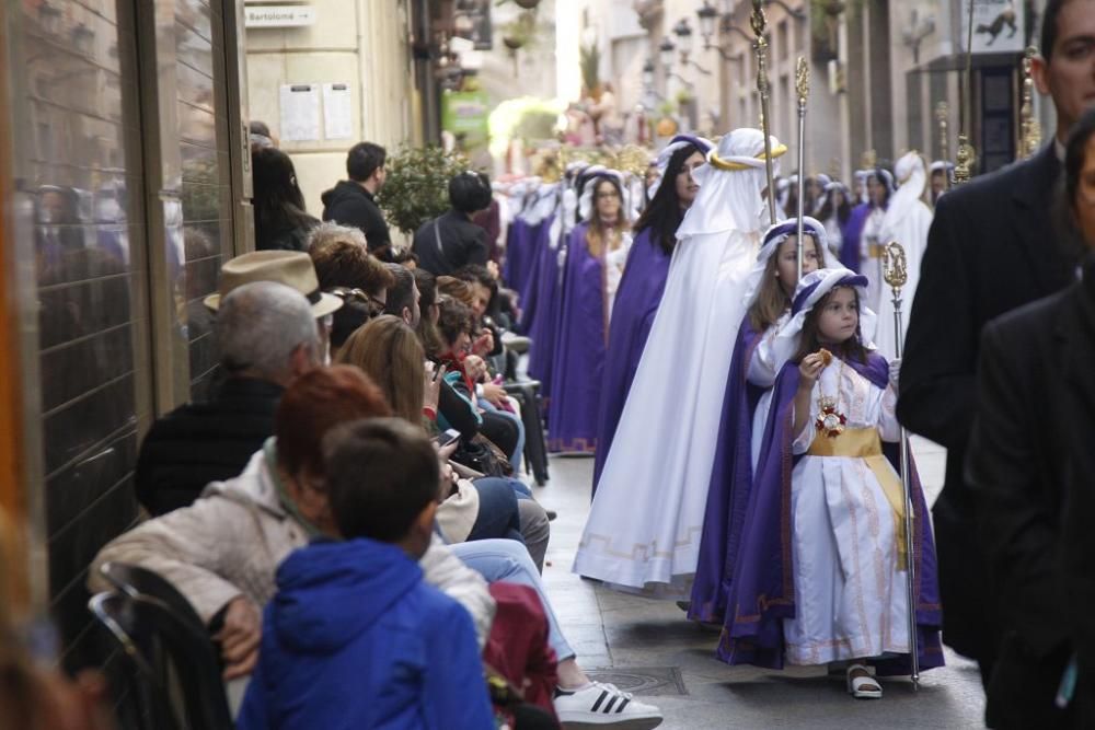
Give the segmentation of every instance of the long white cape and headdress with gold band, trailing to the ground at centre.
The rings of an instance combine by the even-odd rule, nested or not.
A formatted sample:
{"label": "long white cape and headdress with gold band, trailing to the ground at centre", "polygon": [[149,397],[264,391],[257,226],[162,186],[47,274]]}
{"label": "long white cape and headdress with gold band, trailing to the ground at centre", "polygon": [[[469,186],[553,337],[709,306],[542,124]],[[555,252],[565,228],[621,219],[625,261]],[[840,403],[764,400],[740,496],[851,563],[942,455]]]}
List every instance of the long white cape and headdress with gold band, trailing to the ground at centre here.
{"label": "long white cape and headdress with gold band, trailing to the ground at centre", "polygon": [[[786,148],[774,139],[773,155]],[[696,174],[661,305],[597,486],[574,572],[667,596],[687,593],[746,278],[760,244],[763,136],[723,138]]]}

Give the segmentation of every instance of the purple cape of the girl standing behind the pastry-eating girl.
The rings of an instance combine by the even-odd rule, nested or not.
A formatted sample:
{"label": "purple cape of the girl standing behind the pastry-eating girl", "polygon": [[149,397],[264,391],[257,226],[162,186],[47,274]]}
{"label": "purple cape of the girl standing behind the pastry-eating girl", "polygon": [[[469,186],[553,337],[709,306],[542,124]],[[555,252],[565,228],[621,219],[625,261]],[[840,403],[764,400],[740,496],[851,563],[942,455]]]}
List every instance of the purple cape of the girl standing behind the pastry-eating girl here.
{"label": "purple cape of the girl standing behind the pastry-eating girl", "polygon": [[747,315],[738,327],[718,424],[718,445],[711,470],[703,517],[700,561],[692,583],[689,618],[723,623],[746,509],[752,486],[752,419],[764,389],[748,381],[749,361],[760,337]]}

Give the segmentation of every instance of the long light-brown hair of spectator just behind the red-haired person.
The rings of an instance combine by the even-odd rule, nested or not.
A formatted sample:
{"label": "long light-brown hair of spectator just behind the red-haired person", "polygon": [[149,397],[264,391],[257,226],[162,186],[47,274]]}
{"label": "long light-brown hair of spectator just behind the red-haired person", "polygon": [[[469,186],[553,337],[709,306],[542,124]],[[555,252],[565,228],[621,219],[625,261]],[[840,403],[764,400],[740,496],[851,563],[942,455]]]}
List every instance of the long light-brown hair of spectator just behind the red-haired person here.
{"label": "long light-brown hair of spectator just behind the red-haired person", "polygon": [[422,425],[425,360],[418,335],[391,314],[359,327],[336,359],[360,368],[383,392],[394,414],[416,426]]}

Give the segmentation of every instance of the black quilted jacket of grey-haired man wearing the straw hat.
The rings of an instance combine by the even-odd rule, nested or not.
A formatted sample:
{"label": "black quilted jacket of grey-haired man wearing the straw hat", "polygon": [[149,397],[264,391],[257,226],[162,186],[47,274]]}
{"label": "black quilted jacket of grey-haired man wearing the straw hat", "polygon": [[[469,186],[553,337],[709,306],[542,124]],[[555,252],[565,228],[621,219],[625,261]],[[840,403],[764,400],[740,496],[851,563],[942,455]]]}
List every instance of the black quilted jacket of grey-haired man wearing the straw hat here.
{"label": "black quilted jacket of grey-haired man wearing the straw hat", "polygon": [[137,499],[158,515],[189,506],[210,482],[238,476],[274,434],[280,385],[229,378],[209,403],[188,403],[157,419],[141,443]]}

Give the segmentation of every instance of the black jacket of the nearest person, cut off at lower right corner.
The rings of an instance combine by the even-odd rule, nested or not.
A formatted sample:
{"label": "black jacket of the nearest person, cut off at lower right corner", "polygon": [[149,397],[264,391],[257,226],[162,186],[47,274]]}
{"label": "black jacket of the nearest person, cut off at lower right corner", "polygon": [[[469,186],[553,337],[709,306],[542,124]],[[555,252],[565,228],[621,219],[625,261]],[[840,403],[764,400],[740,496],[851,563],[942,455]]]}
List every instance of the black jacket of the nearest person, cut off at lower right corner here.
{"label": "black jacket of the nearest person, cut off at lower right corner", "polygon": [[[988,686],[992,728],[1073,721],[1053,699],[1073,652],[1069,606],[1083,605],[1083,621],[1093,623],[1091,603],[1068,598],[1062,549],[1067,485],[1081,489],[1074,500],[1095,495],[1091,472],[1071,478],[1095,433],[1095,408],[1075,409],[1076,394],[1095,390],[1095,297],[1085,289],[1095,281],[1005,314],[981,337],[966,478],[991,577],[986,603],[994,604],[1001,637]],[[1076,433],[1084,437],[1070,447]],[[1076,549],[1086,553],[1072,557],[1091,560],[1091,546]]]}

